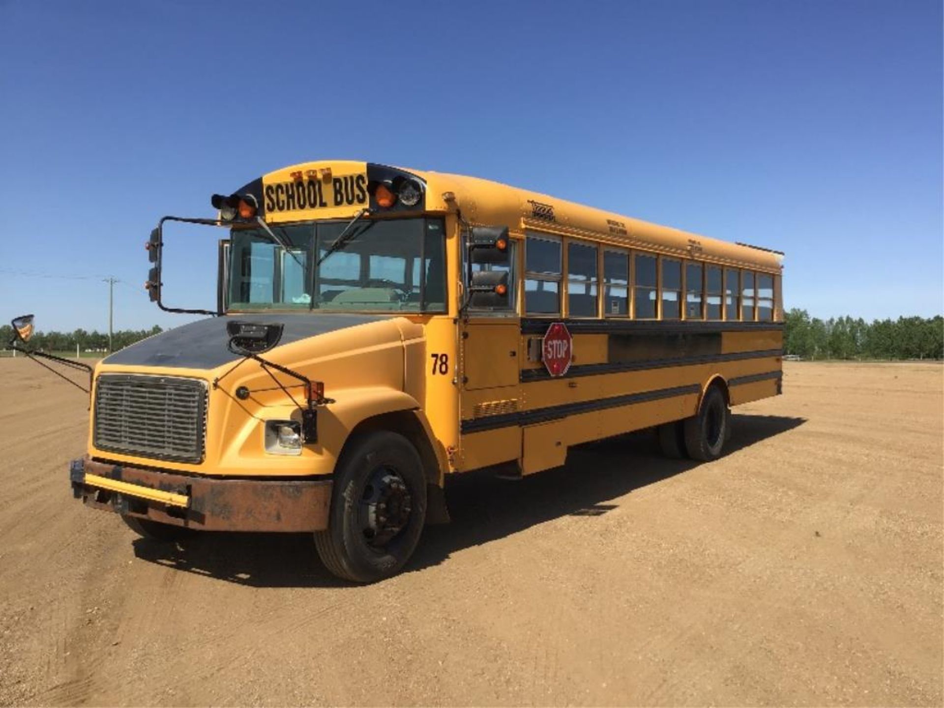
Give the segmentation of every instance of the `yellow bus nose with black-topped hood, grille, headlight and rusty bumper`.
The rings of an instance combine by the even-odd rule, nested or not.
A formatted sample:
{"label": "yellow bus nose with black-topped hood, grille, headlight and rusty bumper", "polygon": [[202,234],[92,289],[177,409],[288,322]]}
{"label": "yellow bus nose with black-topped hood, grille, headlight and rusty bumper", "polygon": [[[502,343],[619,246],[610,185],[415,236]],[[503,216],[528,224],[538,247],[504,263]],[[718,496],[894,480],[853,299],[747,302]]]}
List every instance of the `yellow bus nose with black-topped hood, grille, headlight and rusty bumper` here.
{"label": "yellow bus nose with black-topped hood, grille, headlight and rusty bumper", "polygon": [[[228,351],[228,318],[206,319],[98,367],[89,455],[73,466],[76,490],[91,504],[189,529],[326,528],[346,433],[361,419],[418,408],[404,390],[404,362],[418,358],[423,328],[370,315],[253,320],[276,317],[283,341],[299,339],[270,350],[267,361],[333,384],[335,403],[316,410],[312,444],[301,444],[301,409],[292,400],[301,402],[303,387],[255,362],[236,366],[244,359]],[[176,497],[149,496],[128,482]]]}

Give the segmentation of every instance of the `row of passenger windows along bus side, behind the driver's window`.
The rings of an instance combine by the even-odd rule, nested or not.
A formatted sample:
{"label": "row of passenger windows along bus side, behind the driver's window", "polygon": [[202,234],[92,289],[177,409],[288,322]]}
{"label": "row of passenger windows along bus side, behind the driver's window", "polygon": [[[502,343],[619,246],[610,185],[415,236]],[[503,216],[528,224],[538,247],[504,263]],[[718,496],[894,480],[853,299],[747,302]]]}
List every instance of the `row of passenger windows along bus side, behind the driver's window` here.
{"label": "row of passenger windows along bus side, behind the driver's window", "polygon": [[[525,312],[562,312],[566,281],[570,317],[635,319],[760,320],[774,316],[774,276],[739,268],[722,268],[649,253],[603,248],[602,278],[598,246],[528,234],[525,243]],[[683,310],[684,309],[684,310]]]}

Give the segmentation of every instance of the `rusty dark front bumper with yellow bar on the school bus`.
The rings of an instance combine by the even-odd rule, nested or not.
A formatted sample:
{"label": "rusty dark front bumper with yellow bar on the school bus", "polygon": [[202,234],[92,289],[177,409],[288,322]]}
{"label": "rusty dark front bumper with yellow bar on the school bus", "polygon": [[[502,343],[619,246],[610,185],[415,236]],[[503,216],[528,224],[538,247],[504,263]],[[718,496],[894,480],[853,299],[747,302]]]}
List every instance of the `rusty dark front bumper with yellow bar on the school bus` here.
{"label": "rusty dark front bumper with yellow bar on the school bus", "polygon": [[96,509],[201,531],[324,531],[331,480],[214,480],[89,457],[69,467],[73,495]]}

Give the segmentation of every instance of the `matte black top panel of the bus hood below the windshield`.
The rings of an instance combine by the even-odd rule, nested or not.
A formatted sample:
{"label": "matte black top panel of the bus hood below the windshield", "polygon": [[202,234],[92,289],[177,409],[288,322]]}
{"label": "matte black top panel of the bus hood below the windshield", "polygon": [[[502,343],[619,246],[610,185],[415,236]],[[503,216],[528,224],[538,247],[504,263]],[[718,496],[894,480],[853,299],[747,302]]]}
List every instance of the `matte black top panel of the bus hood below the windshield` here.
{"label": "matte black top panel of the bus hood below the windshield", "polygon": [[227,348],[227,322],[240,320],[285,326],[278,346],[300,339],[389,319],[379,314],[251,313],[197,320],[116,351],[102,363],[212,369],[241,357]]}

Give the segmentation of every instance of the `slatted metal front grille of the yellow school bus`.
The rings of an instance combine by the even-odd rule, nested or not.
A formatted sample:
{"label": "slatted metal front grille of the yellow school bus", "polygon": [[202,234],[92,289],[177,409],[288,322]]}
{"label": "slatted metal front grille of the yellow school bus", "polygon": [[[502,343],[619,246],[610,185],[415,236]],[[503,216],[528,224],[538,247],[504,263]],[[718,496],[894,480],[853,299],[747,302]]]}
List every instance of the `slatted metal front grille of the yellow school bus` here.
{"label": "slatted metal front grille of the yellow school bus", "polygon": [[95,384],[95,447],[111,452],[203,461],[207,385],[198,379],[106,374]]}

